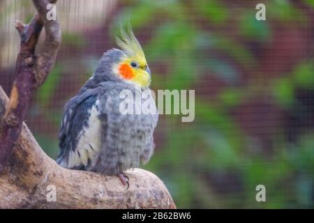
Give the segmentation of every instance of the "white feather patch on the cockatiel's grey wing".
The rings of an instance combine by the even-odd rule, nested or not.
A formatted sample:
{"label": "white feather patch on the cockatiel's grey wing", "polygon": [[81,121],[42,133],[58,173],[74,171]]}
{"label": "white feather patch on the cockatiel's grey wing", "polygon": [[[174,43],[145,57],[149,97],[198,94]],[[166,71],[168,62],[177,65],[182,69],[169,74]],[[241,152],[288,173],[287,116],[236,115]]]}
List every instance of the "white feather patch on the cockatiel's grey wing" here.
{"label": "white feather patch on the cockatiel's grey wing", "polygon": [[100,132],[101,122],[98,118],[99,112],[96,107],[99,105],[99,100],[90,110],[88,128],[84,128],[80,132],[80,139],[77,143],[75,151],[70,151],[68,157],[68,168],[80,167],[83,164],[85,167],[89,164],[94,166],[97,156],[100,153]]}

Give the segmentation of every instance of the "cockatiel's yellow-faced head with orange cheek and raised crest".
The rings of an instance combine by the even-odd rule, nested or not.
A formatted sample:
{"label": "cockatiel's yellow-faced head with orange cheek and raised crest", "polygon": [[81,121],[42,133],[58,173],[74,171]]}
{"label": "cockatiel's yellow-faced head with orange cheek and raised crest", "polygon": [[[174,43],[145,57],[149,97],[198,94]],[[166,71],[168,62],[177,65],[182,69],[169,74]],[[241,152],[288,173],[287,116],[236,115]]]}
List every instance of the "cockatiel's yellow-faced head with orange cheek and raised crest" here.
{"label": "cockatiel's yellow-faced head with orange cheek and raised crest", "polygon": [[117,79],[137,84],[142,89],[148,87],[151,84],[151,71],[142,47],[130,26],[128,30],[121,29],[121,36],[116,40],[121,49],[110,49],[105,52],[94,73],[97,82]]}

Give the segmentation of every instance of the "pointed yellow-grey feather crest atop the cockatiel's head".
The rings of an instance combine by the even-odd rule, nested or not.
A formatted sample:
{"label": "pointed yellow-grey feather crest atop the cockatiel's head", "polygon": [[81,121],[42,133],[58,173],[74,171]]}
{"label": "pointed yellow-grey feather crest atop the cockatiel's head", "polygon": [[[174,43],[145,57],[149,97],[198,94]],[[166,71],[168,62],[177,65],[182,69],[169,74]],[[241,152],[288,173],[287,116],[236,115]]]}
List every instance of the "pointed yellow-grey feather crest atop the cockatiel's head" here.
{"label": "pointed yellow-grey feather crest atop the cockatiel's head", "polygon": [[145,58],[143,49],[135,37],[130,23],[127,29],[121,26],[120,37],[116,36],[117,45],[130,55],[137,55]]}

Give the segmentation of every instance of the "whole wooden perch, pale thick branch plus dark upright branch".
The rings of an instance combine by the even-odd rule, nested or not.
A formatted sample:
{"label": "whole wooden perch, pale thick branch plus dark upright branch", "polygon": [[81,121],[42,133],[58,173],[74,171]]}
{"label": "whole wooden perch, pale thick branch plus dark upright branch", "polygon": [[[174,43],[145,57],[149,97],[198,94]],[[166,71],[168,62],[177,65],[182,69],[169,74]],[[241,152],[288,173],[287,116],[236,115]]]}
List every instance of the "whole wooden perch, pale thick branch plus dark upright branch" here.
{"label": "whole wooden perch, pale thick branch plus dark upright branch", "polygon": [[[45,18],[47,3],[54,2],[33,0],[38,13],[26,26],[16,23],[21,49],[10,100],[0,86],[0,208],[175,208],[163,182],[149,171],[126,171],[126,190],[115,176],[60,167],[23,122],[31,92],[43,84],[57,56],[59,24]],[[43,26],[45,46],[36,55]],[[55,201],[49,199],[54,189]]]}

